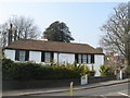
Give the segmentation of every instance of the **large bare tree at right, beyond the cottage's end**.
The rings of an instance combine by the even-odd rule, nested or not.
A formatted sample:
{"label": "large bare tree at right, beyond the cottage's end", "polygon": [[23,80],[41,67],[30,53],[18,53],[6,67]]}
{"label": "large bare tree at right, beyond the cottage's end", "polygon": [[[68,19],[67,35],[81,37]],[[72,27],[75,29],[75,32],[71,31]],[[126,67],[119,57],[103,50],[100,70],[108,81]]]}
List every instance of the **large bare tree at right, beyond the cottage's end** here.
{"label": "large bare tree at right, beyond the cottage's end", "polygon": [[128,3],[120,3],[114,8],[114,13],[101,27],[105,36],[101,39],[101,45],[105,50],[122,54],[127,64],[130,65],[130,34],[128,26]]}

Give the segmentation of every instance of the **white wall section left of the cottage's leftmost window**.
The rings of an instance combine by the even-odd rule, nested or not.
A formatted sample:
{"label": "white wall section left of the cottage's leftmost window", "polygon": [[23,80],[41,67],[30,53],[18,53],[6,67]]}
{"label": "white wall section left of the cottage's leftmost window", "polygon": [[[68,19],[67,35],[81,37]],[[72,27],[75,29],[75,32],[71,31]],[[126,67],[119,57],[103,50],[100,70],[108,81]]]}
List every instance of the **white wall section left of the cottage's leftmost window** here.
{"label": "white wall section left of the cottage's leftmost window", "polygon": [[15,61],[15,50],[5,49],[4,54],[5,54],[6,59],[11,59],[11,60]]}

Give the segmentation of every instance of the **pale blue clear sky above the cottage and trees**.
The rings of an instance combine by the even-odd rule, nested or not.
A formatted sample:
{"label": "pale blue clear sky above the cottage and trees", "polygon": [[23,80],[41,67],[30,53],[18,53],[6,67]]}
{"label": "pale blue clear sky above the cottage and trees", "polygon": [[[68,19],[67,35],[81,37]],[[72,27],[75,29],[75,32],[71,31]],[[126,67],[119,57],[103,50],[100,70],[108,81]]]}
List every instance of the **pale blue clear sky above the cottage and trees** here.
{"label": "pale blue clear sky above the cottage and trees", "polygon": [[34,19],[42,32],[55,21],[69,27],[73,42],[89,44],[99,47],[104,35],[100,27],[105,24],[113,9],[120,2],[0,2],[0,24],[10,17],[25,16]]}

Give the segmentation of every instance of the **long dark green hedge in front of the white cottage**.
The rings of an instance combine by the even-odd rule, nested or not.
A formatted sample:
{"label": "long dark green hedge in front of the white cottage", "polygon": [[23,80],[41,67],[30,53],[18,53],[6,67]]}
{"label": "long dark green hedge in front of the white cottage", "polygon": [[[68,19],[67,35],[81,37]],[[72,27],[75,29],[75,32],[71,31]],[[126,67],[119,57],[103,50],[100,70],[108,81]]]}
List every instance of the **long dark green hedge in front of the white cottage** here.
{"label": "long dark green hedge in front of the white cottage", "polygon": [[13,62],[9,59],[2,59],[3,79],[63,79],[79,78],[88,74],[94,76],[95,71],[90,71],[87,65],[74,64],[42,65],[34,62]]}

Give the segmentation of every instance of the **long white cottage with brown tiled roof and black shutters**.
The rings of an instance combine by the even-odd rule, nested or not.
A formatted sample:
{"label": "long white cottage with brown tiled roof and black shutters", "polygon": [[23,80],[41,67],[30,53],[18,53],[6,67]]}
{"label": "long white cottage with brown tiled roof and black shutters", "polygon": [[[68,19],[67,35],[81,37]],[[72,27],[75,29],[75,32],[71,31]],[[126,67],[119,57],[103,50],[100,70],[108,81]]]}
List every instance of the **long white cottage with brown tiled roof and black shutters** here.
{"label": "long white cottage with brown tiled roof and black shutters", "polygon": [[96,76],[100,75],[99,69],[104,64],[104,53],[87,44],[73,44],[60,41],[46,41],[22,39],[4,48],[4,54],[13,61],[35,61],[60,63],[83,63],[91,68],[94,65]]}

